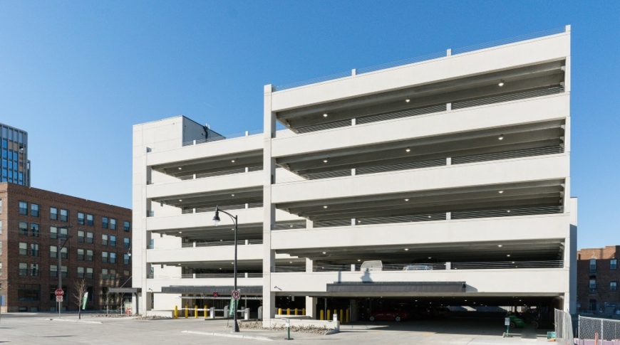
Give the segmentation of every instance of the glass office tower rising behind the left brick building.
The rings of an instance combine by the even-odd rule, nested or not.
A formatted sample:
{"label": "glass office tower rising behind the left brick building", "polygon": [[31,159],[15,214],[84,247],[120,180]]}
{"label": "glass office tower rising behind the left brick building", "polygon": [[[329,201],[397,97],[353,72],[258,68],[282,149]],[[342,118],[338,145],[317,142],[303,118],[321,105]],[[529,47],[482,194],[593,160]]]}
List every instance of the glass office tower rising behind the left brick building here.
{"label": "glass office tower rising behind the left brick building", "polygon": [[0,182],[30,186],[28,133],[0,123]]}

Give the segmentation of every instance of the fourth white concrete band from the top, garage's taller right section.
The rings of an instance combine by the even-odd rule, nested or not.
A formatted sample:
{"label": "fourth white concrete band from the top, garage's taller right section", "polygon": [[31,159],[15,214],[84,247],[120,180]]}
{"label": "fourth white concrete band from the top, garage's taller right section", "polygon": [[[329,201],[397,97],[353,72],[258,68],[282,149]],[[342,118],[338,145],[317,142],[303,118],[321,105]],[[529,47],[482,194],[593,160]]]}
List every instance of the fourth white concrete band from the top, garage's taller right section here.
{"label": "fourth white concrete band from the top, garage's taller right section", "polygon": [[[541,231],[544,229],[544,231]],[[378,236],[377,234],[381,234]],[[537,240],[569,236],[569,215],[475,218],[272,231],[275,250]],[[334,240],[338,239],[338,240]]]}

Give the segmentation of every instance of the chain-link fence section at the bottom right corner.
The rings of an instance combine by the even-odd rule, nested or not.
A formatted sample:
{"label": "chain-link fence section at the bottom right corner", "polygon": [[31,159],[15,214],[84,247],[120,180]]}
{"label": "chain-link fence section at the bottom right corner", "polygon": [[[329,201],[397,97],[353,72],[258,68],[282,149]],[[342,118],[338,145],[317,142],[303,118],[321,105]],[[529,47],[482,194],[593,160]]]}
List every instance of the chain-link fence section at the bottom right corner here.
{"label": "chain-link fence section at the bottom right corner", "polygon": [[620,320],[579,316],[577,337],[578,345],[620,345]]}

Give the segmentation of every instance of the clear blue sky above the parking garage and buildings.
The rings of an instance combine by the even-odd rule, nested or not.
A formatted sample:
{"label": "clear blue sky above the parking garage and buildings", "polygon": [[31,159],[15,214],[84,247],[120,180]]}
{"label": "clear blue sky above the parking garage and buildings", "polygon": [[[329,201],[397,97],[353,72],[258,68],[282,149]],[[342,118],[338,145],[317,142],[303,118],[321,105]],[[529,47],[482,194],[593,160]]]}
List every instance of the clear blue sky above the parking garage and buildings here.
{"label": "clear blue sky above the parking garage and buildings", "polygon": [[620,1],[1,1],[0,122],[33,186],[130,207],[133,124],[261,129],[265,84],[565,24],[579,248],[620,244]]}

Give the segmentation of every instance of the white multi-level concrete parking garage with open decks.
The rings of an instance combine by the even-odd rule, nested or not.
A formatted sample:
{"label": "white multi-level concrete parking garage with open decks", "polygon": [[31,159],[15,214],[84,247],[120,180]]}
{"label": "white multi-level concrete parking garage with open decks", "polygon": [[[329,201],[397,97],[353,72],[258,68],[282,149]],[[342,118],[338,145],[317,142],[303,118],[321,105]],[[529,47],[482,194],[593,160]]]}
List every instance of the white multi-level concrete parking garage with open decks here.
{"label": "white multi-level concrete parking garage with open decks", "polygon": [[316,318],[328,299],[356,315],[383,297],[574,312],[569,105],[567,27],[266,85],[261,134],[135,125],[140,312],[230,295],[232,222],[213,225],[215,206],[239,217],[239,286],[267,325],[290,301]]}

